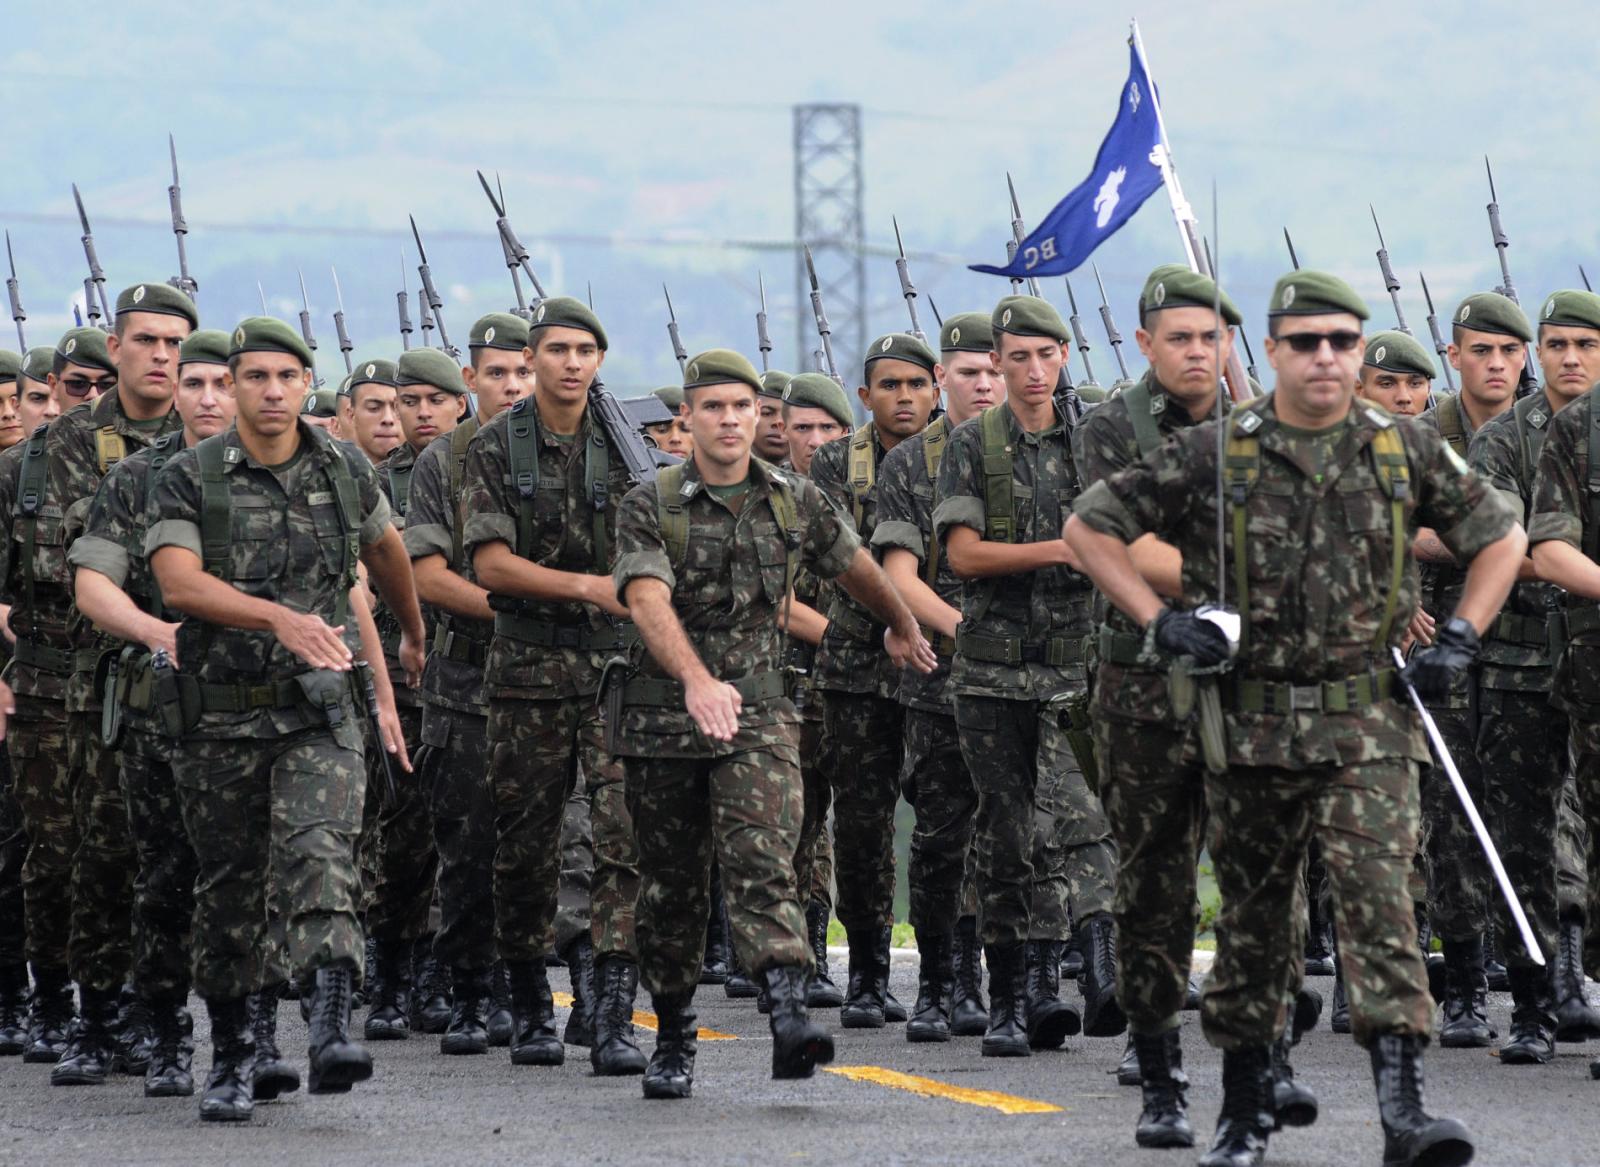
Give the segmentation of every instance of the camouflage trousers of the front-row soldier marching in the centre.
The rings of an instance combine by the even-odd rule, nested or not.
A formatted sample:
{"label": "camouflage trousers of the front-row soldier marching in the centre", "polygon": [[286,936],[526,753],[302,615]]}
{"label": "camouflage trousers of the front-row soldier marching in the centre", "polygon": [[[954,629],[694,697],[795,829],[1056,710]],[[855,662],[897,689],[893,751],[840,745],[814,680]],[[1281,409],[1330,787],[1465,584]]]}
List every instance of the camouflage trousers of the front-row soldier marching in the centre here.
{"label": "camouflage trousers of the front-row soldier marching in the centre", "polygon": [[[781,727],[779,727],[781,728]],[[733,951],[760,978],[813,970],[795,895],[800,754],[773,741],[725,757],[629,757],[638,824],[638,972],[658,997],[691,997],[706,954],[712,858],[722,868]]]}

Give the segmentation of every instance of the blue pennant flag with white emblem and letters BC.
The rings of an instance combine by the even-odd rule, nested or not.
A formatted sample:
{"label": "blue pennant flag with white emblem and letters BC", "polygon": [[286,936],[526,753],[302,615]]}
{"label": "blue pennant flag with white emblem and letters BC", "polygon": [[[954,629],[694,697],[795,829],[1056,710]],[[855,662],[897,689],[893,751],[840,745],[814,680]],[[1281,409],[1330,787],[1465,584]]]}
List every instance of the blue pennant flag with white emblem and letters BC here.
{"label": "blue pennant flag with white emblem and letters BC", "polygon": [[1117,120],[1094,155],[1094,170],[1018,245],[1011,263],[1003,267],[973,264],[974,272],[1018,279],[1066,275],[1160,189],[1157,158],[1165,147],[1155,118],[1155,86],[1131,45],[1128,58]]}

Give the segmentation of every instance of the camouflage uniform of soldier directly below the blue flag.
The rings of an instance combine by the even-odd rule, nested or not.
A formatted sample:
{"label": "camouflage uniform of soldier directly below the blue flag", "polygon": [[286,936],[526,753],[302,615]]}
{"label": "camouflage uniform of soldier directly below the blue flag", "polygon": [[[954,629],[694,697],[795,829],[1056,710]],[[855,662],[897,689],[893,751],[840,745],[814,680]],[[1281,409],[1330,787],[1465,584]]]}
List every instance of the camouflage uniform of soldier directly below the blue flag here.
{"label": "camouflage uniform of soldier directly below the blue flag", "polygon": [[[1003,410],[1013,450],[1018,543],[1059,538],[1077,471],[1059,416],[1026,432]],[[982,416],[950,434],[933,523],[986,531]],[[1090,581],[1069,567],[971,581],[962,592],[947,692],[962,754],[978,781],[978,895],[986,948],[1064,940],[1070,914],[1112,909],[1117,845],[1072,746],[1072,704],[1086,696]],[[1006,660],[1014,663],[1006,663]],[[1069,909],[1070,904],[1070,909]]]}

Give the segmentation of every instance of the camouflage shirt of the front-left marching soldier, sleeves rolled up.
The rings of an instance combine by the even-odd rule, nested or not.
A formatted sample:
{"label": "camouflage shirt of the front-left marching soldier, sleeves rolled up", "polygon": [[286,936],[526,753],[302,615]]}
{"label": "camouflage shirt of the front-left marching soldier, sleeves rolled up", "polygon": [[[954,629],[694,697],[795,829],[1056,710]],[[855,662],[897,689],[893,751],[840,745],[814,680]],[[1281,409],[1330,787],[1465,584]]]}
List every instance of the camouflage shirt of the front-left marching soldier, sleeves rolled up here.
{"label": "camouflage shirt of the front-left marching soldier, sleeves rolled up", "polygon": [[[222,477],[229,488],[227,583],[245,596],[282,604],[294,612],[317,613],[334,621],[341,594],[347,592],[344,567],[346,531],[336,503],[334,459],[342,459],[355,483],[357,539],[370,547],[390,530],[389,503],[371,463],[354,447],[299,423],[299,450],[283,466],[262,466],[248,453],[238,431],[229,427]],[[200,522],[200,461],[184,450],[155,475],[147,506],[146,554],[160,547],[184,547],[205,555]],[[354,570],[354,565],[352,565]],[[360,652],[360,629],[344,621],[344,640]],[[258,685],[283,682],[307,672],[304,661],[267,631],[222,628],[186,618],[178,629],[182,676],[203,685]],[[272,706],[243,712],[206,712],[194,736],[275,738],[314,725],[323,716],[309,704]],[[360,741],[355,732],[354,741]]]}

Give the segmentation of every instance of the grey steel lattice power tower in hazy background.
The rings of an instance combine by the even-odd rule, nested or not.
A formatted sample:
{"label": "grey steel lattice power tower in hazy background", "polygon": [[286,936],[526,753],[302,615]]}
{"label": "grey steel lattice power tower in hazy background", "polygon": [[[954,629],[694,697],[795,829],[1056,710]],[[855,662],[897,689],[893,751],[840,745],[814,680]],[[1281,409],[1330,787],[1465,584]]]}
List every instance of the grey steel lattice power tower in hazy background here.
{"label": "grey steel lattice power tower in hazy background", "polygon": [[840,375],[850,381],[867,343],[867,267],[862,261],[861,106],[795,106],[797,373],[816,368],[819,347],[800,243],[811,245],[834,333]]}

